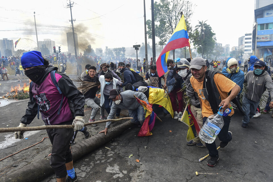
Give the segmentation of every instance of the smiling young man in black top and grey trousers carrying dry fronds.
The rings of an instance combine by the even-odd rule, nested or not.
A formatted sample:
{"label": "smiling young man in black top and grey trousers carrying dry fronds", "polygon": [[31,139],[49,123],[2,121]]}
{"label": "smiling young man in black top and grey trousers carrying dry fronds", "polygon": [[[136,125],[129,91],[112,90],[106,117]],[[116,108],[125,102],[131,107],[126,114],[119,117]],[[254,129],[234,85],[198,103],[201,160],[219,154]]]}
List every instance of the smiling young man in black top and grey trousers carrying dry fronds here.
{"label": "smiling young man in black top and grey trousers carrying dry fronds", "polygon": [[[96,76],[96,67],[90,66],[88,68],[88,75],[84,76],[83,81],[86,82],[99,82],[98,76]],[[95,116],[100,108],[100,120],[105,120],[106,116],[104,115],[104,104],[100,107],[100,98],[96,96],[97,91],[100,89],[100,85],[97,87],[90,88],[85,94],[85,104],[89,107],[92,107],[92,113],[89,119],[89,123],[95,121]],[[92,126],[97,126],[93,124]]]}

